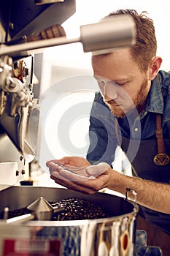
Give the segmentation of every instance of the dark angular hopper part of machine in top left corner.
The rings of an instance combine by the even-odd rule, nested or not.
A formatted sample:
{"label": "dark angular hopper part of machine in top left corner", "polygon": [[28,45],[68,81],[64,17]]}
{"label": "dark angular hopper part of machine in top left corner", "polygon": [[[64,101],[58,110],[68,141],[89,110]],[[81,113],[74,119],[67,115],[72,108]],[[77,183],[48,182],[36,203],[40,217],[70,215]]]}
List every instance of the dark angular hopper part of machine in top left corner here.
{"label": "dark angular hopper part of machine in top left corner", "polygon": [[[47,1],[46,1],[47,2]],[[37,5],[34,0],[1,0],[1,24],[6,33],[4,42],[39,34],[40,31],[62,24],[75,12],[75,0]]]}

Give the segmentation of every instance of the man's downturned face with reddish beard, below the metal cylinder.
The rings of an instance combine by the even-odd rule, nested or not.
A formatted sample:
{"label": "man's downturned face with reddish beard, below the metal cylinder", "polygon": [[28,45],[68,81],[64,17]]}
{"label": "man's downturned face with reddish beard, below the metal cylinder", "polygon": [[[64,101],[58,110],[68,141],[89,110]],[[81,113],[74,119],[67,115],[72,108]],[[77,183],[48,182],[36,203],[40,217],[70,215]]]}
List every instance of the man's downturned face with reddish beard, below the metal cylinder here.
{"label": "man's downturned face with reddish beard, below the metal cylinder", "polygon": [[92,67],[104,102],[113,115],[123,117],[134,108],[142,110],[151,82],[148,72],[142,72],[132,59],[130,50],[93,56]]}

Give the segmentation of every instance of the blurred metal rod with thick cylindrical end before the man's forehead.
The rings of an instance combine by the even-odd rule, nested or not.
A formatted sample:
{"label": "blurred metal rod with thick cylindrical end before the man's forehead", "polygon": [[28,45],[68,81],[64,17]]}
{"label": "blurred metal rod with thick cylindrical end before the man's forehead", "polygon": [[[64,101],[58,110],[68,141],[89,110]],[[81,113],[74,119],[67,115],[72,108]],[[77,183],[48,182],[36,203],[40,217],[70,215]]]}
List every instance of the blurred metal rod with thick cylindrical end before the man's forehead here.
{"label": "blurred metal rod with thick cylindrical end before the man's forehead", "polygon": [[58,45],[81,42],[84,52],[102,50],[107,53],[115,48],[134,45],[136,36],[135,23],[130,15],[116,15],[99,23],[80,26],[80,37],[67,39],[59,37],[43,39],[34,42],[24,42],[18,45],[1,45],[0,56],[20,53],[27,50],[37,50]]}

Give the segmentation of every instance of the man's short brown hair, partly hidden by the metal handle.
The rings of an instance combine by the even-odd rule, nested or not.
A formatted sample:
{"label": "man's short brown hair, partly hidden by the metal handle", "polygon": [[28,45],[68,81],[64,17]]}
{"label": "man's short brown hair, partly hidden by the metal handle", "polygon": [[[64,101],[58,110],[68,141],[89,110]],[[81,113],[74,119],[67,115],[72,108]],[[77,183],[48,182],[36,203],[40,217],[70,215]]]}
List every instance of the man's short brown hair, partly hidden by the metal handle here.
{"label": "man's short brown hair, partly hidden by the metal handle", "polygon": [[111,12],[107,17],[127,14],[131,15],[136,23],[136,43],[131,48],[131,53],[139,67],[146,71],[152,58],[156,56],[157,40],[155,37],[155,27],[152,19],[147,17],[147,12],[138,14],[136,10],[125,9]]}

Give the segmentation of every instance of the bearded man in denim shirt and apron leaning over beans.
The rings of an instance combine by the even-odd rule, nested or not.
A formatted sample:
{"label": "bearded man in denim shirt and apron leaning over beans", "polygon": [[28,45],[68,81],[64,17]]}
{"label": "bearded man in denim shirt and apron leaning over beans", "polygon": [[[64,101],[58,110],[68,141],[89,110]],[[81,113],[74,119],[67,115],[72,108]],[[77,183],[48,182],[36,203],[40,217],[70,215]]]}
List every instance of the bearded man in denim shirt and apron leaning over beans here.
{"label": "bearded man in denim shirt and apron leaning over beans", "polygon": [[[90,114],[87,159],[64,157],[47,166],[56,183],[80,192],[93,194],[107,187],[125,195],[127,188],[134,189],[139,214],[170,241],[170,73],[159,71],[162,59],[156,56],[155,29],[146,13],[118,10],[109,16],[117,14],[134,18],[136,43],[92,56],[100,93]],[[131,162],[133,176],[112,170],[118,145]],[[63,165],[83,170],[77,175]]]}

